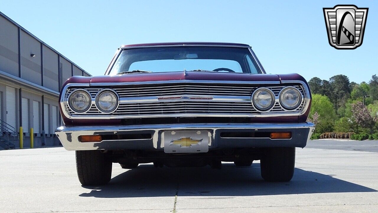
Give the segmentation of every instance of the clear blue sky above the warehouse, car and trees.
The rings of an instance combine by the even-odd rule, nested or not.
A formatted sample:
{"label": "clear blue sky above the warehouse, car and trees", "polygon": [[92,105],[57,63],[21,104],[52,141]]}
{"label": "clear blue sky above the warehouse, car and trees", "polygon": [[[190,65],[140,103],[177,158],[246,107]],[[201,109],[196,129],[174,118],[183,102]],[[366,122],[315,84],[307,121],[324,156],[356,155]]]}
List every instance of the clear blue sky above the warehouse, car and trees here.
{"label": "clear blue sky above the warehouse, car and trees", "polygon": [[[363,45],[328,44],[323,7],[368,7]],[[266,72],[307,80],[378,70],[378,2],[373,1],[1,1],[0,11],[92,75],[103,75],[122,44],[237,42],[253,47]]]}

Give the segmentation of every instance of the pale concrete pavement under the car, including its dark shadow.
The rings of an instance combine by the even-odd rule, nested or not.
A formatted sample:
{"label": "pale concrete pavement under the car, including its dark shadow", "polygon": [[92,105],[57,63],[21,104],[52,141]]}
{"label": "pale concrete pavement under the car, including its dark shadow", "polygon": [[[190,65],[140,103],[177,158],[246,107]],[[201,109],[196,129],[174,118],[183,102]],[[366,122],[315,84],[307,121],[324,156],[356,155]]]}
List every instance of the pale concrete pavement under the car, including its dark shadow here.
{"label": "pale concrete pavement under the car, including its dark shadow", "polygon": [[378,212],[375,152],[298,148],[288,183],[263,182],[259,166],[113,164],[109,185],[82,187],[74,152],[2,150],[0,212]]}

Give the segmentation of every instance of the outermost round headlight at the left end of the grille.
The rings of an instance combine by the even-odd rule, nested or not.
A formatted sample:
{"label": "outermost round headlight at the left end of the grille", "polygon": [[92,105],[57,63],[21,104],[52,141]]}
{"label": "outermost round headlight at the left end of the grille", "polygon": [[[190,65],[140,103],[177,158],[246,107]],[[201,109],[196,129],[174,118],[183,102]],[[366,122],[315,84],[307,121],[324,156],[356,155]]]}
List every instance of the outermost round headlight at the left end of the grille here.
{"label": "outermost round headlight at the left end of the grille", "polygon": [[70,108],[76,113],[85,113],[91,105],[91,96],[84,89],[73,91],[68,99]]}

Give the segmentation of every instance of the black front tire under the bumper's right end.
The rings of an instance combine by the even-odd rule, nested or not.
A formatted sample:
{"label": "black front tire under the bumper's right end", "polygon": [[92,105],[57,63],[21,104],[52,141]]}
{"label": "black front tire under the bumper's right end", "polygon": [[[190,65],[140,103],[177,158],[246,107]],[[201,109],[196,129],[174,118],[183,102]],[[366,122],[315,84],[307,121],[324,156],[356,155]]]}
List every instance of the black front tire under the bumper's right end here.
{"label": "black front tire under the bumper's right end", "polygon": [[293,178],[295,147],[275,147],[266,150],[260,160],[261,176],[265,181],[288,182]]}

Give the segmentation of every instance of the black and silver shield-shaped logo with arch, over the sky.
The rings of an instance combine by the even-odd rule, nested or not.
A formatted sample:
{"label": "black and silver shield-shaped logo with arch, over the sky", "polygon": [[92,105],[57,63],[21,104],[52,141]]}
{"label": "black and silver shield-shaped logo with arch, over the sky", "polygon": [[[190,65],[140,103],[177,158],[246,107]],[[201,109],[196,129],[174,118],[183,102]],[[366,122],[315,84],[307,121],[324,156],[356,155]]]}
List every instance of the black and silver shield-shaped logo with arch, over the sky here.
{"label": "black and silver shield-shaped logo with arch, over the sky", "polygon": [[368,10],[355,5],[323,8],[330,45],[336,49],[356,49],[361,46]]}

